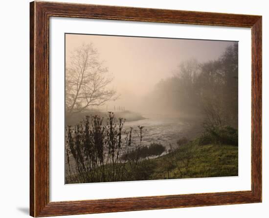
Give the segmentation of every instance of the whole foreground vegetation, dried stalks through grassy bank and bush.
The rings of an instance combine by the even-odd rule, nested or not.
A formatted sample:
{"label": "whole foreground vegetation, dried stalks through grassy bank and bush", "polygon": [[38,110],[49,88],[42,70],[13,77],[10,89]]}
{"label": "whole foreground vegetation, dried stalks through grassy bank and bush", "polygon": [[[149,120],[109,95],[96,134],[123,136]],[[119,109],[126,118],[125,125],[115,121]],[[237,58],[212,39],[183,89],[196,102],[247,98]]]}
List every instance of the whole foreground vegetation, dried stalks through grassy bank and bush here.
{"label": "whole foreground vegetation, dried stalks through grassy bank and bush", "polygon": [[107,122],[94,116],[68,127],[66,183],[238,175],[238,133],[230,126],[207,127],[200,137],[180,138],[165,148],[142,145],[143,126],[137,127],[138,144],[132,141],[133,127],[123,137],[123,125],[109,113]]}

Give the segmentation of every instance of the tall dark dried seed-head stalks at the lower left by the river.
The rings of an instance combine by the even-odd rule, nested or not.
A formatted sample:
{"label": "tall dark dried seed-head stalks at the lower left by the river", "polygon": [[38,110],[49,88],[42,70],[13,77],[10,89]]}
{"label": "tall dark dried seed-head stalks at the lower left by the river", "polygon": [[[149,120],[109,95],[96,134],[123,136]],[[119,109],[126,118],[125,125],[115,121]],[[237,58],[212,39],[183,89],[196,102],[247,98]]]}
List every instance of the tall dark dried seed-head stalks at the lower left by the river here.
{"label": "tall dark dried seed-head stalks at the lower left by the river", "polygon": [[[70,175],[70,156],[75,162],[76,182],[107,182],[122,178],[119,164],[123,140],[123,119],[109,113],[107,122],[99,116],[86,116],[74,127],[67,127],[66,153]],[[70,181],[72,182],[72,181]]]}

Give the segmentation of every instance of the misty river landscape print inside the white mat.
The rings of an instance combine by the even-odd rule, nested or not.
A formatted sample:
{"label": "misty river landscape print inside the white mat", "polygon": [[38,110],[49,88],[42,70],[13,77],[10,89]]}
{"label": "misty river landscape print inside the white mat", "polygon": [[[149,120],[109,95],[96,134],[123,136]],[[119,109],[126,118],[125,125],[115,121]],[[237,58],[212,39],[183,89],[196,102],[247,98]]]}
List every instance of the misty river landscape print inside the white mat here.
{"label": "misty river landscape print inside the white mat", "polygon": [[66,184],[238,176],[238,42],[65,34]]}

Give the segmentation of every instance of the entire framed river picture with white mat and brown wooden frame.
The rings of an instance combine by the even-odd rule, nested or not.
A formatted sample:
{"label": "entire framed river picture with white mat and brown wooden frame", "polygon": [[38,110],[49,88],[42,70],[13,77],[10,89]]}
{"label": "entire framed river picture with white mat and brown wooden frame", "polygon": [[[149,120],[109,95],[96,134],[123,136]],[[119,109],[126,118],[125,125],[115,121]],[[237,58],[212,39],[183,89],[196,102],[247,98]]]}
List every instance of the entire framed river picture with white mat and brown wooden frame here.
{"label": "entire framed river picture with white mat and brown wooden frame", "polygon": [[262,17],[30,3],[30,215],[262,201]]}

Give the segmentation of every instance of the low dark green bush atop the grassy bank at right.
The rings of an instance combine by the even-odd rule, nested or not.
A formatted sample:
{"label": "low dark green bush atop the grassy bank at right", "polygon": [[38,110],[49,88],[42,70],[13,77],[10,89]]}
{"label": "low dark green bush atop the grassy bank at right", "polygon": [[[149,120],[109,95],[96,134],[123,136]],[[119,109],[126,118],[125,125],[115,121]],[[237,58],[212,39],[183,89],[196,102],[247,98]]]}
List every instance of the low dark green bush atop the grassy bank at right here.
{"label": "low dark green bush atop the grassy bank at right", "polygon": [[231,126],[206,128],[205,132],[199,138],[199,144],[208,145],[211,143],[238,146],[238,130]]}

